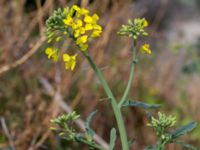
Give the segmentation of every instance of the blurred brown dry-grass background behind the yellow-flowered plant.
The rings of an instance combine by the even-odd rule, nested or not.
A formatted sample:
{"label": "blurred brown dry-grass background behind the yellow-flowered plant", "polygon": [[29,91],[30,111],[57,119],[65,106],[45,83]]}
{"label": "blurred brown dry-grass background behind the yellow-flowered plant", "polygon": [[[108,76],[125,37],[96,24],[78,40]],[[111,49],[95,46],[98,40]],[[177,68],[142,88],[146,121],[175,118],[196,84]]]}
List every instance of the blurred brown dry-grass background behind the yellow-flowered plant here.
{"label": "blurred brown dry-grass background behind the yellow-flowered plant", "polygon": [[[89,51],[119,99],[129,75],[130,39],[116,32],[129,18],[145,17],[152,55],[140,55],[129,98],[162,107],[151,110],[177,116],[177,127],[200,121],[200,1],[199,0],[1,0],[0,1],[0,149],[86,150],[49,130],[50,119],[76,110],[85,120],[96,109],[92,127],[99,143],[109,141],[115,119],[93,71],[79,57],[74,72],[44,54],[45,20],[59,7],[79,6],[100,16],[102,36]],[[70,43],[68,43],[70,45]],[[63,47],[63,49],[67,49]],[[132,150],[154,144],[145,111],[124,110]],[[82,121],[81,120],[81,121]],[[77,128],[81,131],[79,122]],[[200,147],[200,127],[182,140]],[[120,146],[119,139],[117,147]],[[182,150],[171,144],[168,150]],[[116,148],[116,150],[120,150]]]}

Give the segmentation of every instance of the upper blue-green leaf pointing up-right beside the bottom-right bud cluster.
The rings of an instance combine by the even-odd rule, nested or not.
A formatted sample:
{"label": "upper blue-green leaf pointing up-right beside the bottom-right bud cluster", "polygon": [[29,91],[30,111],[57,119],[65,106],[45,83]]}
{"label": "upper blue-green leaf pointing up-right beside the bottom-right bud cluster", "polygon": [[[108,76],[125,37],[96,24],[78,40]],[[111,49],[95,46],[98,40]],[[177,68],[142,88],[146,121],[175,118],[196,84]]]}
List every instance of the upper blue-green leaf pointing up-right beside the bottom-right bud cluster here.
{"label": "upper blue-green leaf pointing up-right beside the bottom-right bud cluster", "polygon": [[196,126],[197,126],[196,122],[194,122],[194,121],[190,122],[187,125],[175,130],[170,135],[171,135],[172,139],[176,139],[177,137],[192,131]]}

